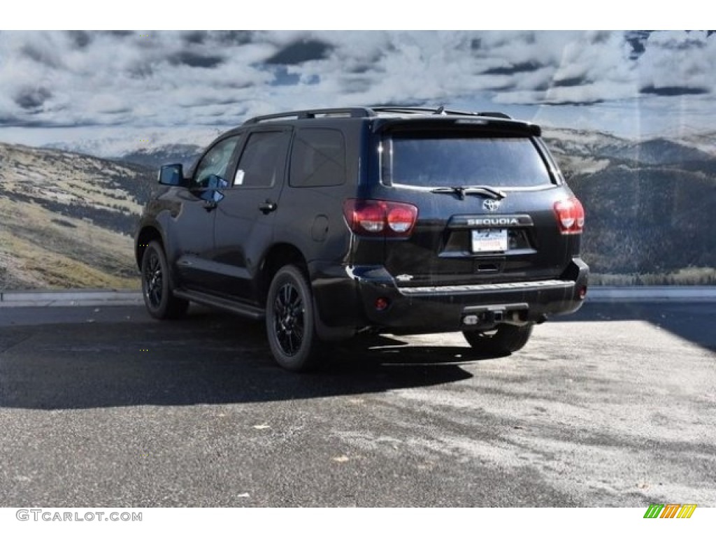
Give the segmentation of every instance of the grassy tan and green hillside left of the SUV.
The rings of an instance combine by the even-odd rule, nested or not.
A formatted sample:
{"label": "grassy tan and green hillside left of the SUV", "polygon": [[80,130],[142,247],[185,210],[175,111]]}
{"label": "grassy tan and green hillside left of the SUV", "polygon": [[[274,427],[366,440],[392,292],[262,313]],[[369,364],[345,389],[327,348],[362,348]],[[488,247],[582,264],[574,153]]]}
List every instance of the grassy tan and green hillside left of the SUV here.
{"label": "grassy tan and green hillside left of the SUV", "polygon": [[154,173],[0,144],[0,289],[137,289],[132,233]]}

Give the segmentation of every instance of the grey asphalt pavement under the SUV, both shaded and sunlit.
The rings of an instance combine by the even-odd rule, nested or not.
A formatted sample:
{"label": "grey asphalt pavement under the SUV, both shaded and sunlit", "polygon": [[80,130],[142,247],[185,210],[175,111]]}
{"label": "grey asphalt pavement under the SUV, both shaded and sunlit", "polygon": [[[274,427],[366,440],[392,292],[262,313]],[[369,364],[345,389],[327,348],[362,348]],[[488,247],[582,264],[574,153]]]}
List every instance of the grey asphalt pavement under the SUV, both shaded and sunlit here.
{"label": "grey asphalt pavement under the SUV, both shaded and sunlit", "polygon": [[0,506],[716,506],[716,304],[588,303],[274,365],[205,309],[0,308]]}

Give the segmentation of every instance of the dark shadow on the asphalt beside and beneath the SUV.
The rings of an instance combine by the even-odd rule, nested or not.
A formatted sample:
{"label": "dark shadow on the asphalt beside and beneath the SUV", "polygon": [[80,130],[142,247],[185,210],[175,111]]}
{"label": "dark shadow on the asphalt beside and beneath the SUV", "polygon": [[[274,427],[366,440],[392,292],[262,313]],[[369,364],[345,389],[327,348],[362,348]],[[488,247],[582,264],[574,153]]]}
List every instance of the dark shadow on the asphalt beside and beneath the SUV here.
{"label": "dark shadow on the asphalt beside and beneath the SUV", "polygon": [[263,324],[193,311],[183,321],[136,314],[127,322],[5,326],[0,329],[0,406],[80,409],[197,405],[359,395],[459,382],[470,347],[370,347],[329,351],[311,374],[279,368]]}

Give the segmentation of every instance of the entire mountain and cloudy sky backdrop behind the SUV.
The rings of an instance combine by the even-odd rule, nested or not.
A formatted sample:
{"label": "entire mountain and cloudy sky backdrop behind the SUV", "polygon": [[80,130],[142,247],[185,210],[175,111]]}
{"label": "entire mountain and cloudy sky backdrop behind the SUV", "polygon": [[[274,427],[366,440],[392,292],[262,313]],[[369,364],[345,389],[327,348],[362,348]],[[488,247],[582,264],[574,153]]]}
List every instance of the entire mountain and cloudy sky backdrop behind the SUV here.
{"label": "entire mountain and cloudy sky backdrop behind the SUV", "polygon": [[505,112],[586,211],[593,284],[716,284],[716,32],[0,32],[0,291],[139,289],[162,164],[253,115]]}

